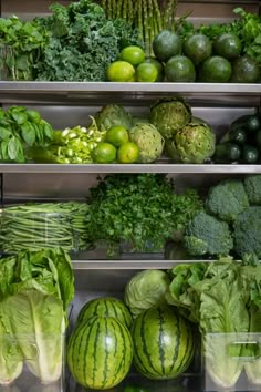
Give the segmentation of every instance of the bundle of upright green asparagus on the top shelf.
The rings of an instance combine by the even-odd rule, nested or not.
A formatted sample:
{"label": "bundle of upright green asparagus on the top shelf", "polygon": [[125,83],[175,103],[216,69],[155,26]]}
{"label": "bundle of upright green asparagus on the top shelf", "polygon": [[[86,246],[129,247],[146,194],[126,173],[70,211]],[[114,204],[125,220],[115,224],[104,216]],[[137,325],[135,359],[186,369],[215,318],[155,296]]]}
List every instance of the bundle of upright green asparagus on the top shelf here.
{"label": "bundle of upright green asparagus on the top shelf", "polygon": [[107,18],[122,18],[137,28],[145,43],[146,55],[153,54],[152,43],[161,30],[175,31],[178,0],[102,0]]}

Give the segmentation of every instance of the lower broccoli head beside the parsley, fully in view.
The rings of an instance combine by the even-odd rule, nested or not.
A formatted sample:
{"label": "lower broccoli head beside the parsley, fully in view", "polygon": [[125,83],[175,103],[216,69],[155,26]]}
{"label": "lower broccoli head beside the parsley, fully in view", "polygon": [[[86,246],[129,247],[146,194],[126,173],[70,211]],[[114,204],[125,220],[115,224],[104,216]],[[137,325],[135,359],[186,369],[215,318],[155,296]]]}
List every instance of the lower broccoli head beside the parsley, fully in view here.
{"label": "lower broccoli head beside the parsley, fully in view", "polygon": [[233,247],[233,240],[226,221],[201,210],[187,225],[184,246],[191,256],[227,256]]}

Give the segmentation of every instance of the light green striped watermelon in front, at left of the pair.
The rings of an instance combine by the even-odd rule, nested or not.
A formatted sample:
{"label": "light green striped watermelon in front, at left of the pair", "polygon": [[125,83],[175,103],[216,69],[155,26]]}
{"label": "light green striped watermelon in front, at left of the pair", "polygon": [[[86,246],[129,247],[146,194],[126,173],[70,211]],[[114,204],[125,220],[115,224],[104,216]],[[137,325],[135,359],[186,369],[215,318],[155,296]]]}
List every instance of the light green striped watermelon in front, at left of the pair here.
{"label": "light green striped watermelon in front, at left of the pair", "polygon": [[129,330],[111,317],[93,317],[80,322],[67,345],[69,369],[79,384],[94,390],[117,385],[133,360]]}

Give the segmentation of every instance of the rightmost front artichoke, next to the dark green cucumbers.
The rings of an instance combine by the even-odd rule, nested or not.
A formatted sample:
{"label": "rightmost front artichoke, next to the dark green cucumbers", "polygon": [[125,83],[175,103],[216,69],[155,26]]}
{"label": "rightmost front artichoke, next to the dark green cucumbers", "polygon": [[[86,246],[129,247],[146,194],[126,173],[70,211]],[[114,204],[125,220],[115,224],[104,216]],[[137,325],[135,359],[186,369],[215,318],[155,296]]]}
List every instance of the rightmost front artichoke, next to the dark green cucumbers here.
{"label": "rightmost front artichoke, next to the dark green cucumbers", "polygon": [[207,124],[189,123],[166,141],[168,156],[186,164],[201,164],[215,153],[216,135]]}

